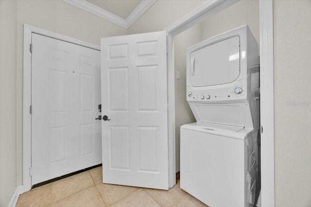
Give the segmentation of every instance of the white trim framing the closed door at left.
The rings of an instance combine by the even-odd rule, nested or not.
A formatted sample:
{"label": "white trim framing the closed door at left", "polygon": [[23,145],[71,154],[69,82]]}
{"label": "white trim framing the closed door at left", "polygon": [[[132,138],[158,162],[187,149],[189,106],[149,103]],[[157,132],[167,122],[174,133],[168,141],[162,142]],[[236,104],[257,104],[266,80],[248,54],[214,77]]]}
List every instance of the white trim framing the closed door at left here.
{"label": "white trim framing the closed door at left", "polygon": [[29,106],[31,105],[31,53],[29,51],[29,46],[31,44],[32,33],[42,34],[48,37],[63,40],[87,48],[101,50],[100,46],[24,24],[23,185],[18,186],[19,194],[29,191],[31,189],[31,177],[29,176],[29,168],[31,167],[31,114],[29,113]]}

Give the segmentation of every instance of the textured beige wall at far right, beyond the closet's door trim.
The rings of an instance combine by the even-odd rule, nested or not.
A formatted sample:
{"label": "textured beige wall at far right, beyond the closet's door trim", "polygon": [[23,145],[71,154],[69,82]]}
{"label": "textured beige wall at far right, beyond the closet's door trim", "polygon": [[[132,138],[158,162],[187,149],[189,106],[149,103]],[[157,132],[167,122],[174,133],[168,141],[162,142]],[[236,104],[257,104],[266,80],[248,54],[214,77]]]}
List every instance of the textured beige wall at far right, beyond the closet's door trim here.
{"label": "textured beige wall at far right, beyond the closet's door trim", "polygon": [[311,0],[273,6],[275,202],[311,207]]}

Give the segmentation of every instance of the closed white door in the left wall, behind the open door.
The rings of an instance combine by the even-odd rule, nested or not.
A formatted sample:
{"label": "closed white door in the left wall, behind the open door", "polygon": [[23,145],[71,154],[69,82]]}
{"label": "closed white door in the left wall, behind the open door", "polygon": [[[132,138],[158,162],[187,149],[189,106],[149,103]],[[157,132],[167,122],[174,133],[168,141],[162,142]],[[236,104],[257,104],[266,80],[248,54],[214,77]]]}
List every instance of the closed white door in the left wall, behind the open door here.
{"label": "closed white door in the left wall, behind the open door", "polygon": [[100,51],[32,34],[32,185],[102,163]]}

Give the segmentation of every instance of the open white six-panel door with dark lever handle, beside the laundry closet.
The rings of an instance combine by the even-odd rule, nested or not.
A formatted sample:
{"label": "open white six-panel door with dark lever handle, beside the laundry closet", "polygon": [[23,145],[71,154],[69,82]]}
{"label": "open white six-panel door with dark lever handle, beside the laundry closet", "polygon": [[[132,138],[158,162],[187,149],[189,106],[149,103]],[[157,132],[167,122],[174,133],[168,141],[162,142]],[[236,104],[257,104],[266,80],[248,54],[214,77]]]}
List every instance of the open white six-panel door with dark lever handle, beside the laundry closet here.
{"label": "open white six-panel door with dark lever handle, beside the laundry closet", "polygon": [[102,38],[103,182],[168,189],[166,32]]}

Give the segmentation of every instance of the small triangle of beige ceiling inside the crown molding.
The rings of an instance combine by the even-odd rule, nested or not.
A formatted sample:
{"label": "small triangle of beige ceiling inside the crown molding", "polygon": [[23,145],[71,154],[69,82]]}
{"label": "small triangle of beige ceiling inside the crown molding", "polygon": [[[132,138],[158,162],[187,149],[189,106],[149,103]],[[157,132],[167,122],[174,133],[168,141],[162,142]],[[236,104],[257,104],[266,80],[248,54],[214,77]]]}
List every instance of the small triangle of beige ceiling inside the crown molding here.
{"label": "small triangle of beige ceiling inside the crown molding", "polygon": [[86,0],[86,1],[116,16],[120,16],[122,19],[126,19],[141,2],[141,0]]}

